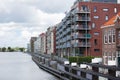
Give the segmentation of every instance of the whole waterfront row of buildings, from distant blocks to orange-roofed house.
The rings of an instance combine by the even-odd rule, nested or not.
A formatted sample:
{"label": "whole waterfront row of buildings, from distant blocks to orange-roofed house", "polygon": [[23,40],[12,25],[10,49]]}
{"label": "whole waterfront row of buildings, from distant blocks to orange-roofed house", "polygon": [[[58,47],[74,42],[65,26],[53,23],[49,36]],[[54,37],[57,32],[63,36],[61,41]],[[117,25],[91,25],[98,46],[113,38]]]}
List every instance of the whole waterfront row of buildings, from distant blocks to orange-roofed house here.
{"label": "whole waterfront row of buildings, from distant blocks to orange-roofed house", "polygon": [[120,54],[119,0],[76,0],[61,22],[31,37],[32,53],[99,56],[108,65]]}

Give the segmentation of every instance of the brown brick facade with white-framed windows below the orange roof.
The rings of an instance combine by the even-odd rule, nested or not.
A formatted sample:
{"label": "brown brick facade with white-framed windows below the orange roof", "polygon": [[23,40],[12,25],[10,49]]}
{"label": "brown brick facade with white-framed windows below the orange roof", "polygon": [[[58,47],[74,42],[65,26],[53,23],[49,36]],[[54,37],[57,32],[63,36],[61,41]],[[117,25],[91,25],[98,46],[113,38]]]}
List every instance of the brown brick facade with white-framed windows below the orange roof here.
{"label": "brown brick facade with white-framed windows below the orange roof", "polygon": [[[103,63],[108,64],[108,61],[115,60],[116,58],[116,29],[114,26],[104,28],[102,30],[103,37],[102,37],[102,43],[103,43]],[[113,33],[114,31],[114,33]],[[113,36],[114,39],[113,39]]]}

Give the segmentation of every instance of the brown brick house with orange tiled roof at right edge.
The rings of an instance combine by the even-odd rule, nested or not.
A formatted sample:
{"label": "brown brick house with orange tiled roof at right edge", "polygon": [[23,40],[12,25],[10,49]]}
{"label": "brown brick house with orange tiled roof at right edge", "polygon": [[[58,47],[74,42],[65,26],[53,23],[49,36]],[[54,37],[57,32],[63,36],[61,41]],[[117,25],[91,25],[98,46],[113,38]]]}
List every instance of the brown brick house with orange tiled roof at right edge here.
{"label": "brown brick house with orange tiled roof at right edge", "polygon": [[112,17],[101,28],[103,63],[116,65],[117,57],[120,57],[120,13]]}

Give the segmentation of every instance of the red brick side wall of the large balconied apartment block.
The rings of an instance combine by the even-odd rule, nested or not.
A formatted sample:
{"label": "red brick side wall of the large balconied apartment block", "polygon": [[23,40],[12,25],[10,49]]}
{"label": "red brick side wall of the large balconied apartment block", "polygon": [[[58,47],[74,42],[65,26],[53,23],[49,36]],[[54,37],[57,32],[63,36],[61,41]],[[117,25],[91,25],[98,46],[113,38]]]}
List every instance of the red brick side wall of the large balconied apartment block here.
{"label": "red brick side wall of the large balconied apartment block", "polygon": [[[108,21],[111,17],[115,16],[120,11],[120,4],[112,4],[112,3],[79,3],[79,7],[82,5],[88,5],[91,10],[91,22],[90,25],[92,30],[90,31],[92,38],[91,49],[90,52],[93,56],[102,56],[102,32],[101,26]],[[96,7],[96,11],[94,8]],[[114,8],[117,9],[117,13],[114,12]],[[107,11],[108,10],[108,11]],[[101,15],[102,14],[102,15]],[[108,16],[108,20],[105,20],[105,17]],[[93,28],[93,23],[95,24],[95,28]],[[96,34],[98,33],[98,35]],[[95,39],[97,40],[97,45],[95,45]]]}

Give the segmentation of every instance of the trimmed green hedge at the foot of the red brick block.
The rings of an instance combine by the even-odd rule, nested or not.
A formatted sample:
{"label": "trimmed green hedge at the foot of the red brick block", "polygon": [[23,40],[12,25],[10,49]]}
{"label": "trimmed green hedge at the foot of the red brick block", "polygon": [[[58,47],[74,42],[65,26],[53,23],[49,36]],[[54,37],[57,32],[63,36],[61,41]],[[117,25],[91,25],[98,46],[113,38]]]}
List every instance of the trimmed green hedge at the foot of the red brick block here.
{"label": "trimmed green hedge at the foot of the red brick block", "polygon": [[91,57],[91,56],[87,56],[87,57],[76,56],[76,57],[69,57],[69,61],[70,61],[70,63],[77,62],[79,64],[81,64],[83,62],[90,63],[93,58],[94,57]]}

